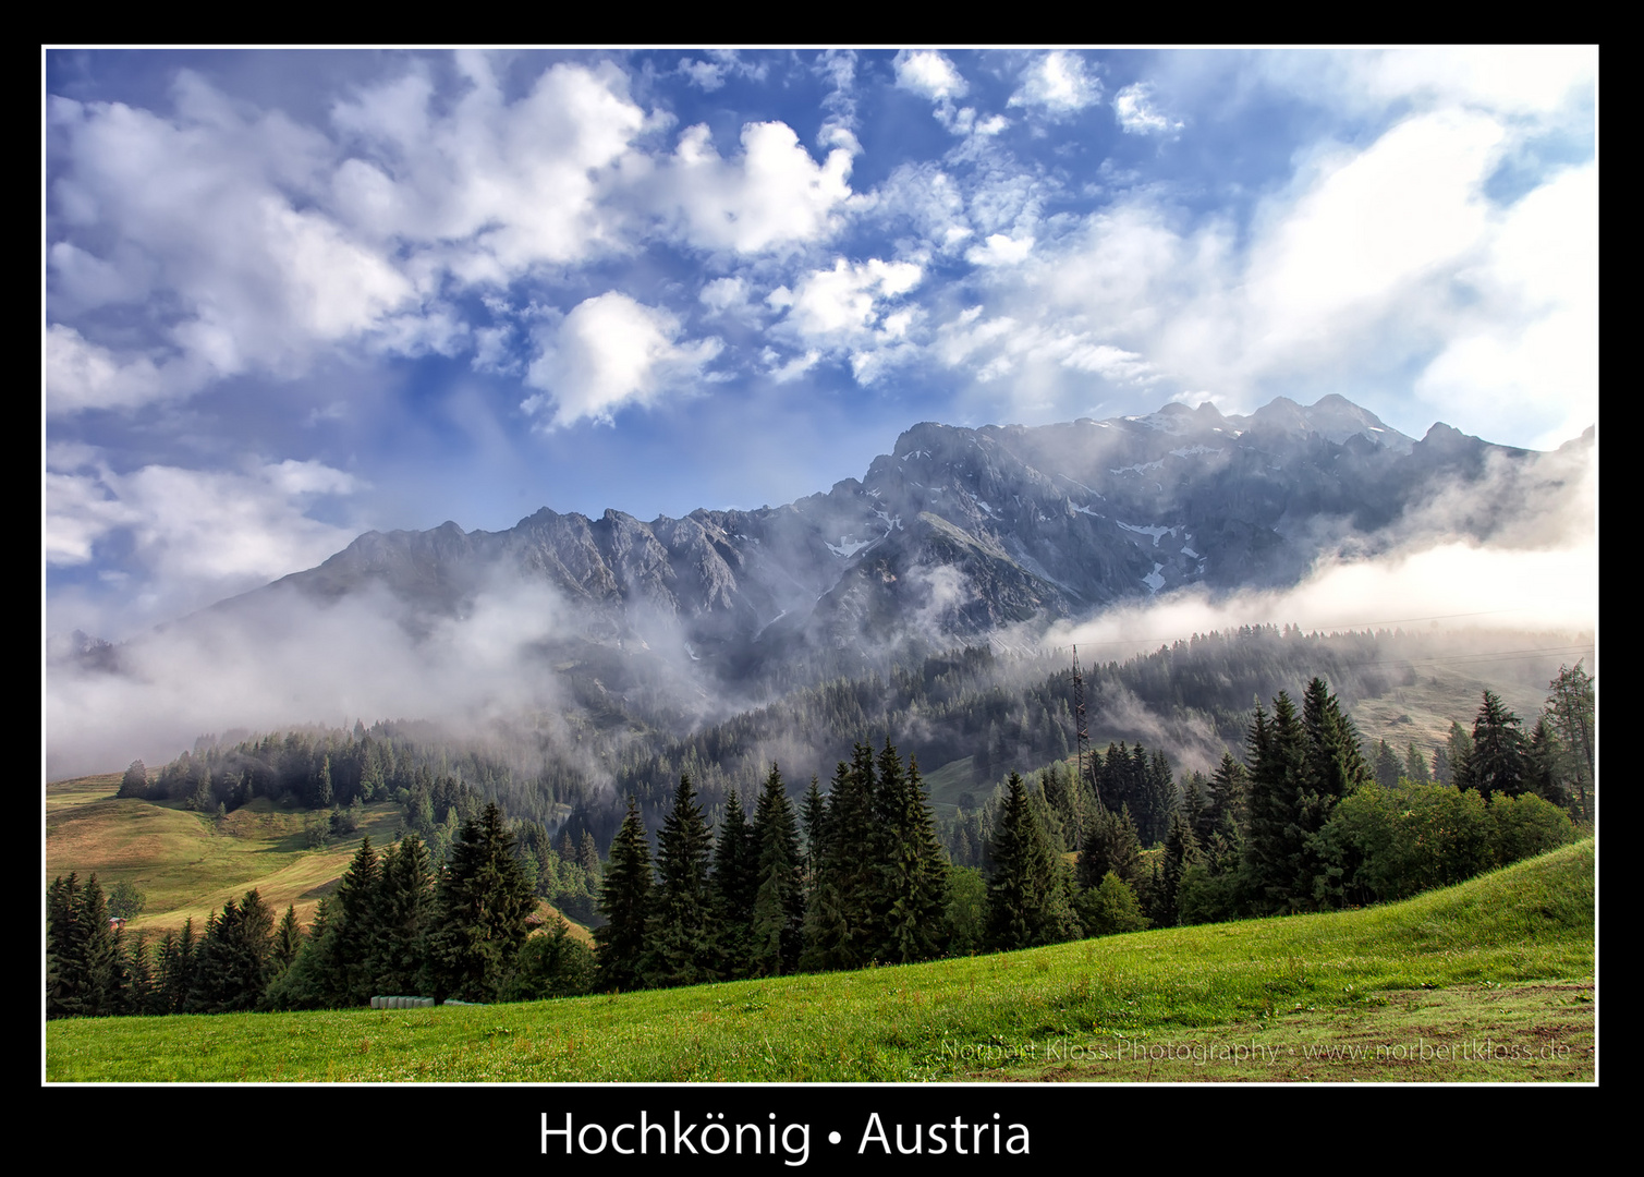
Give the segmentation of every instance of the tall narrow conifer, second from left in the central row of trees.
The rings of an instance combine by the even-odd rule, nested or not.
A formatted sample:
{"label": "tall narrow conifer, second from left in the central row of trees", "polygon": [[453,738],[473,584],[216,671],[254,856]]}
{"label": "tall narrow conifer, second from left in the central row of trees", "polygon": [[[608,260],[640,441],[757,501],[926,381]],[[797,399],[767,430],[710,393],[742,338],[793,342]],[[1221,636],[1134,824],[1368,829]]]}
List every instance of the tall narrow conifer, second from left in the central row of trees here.
{"label": "tall narrow conifer, second from left in the central row of trees", "polygon": [[674,807],[656,840],[658,883],[646,930],[648,985],[720,980],[713,894],[709,883],[712,835],[690,778],[681,774]]}

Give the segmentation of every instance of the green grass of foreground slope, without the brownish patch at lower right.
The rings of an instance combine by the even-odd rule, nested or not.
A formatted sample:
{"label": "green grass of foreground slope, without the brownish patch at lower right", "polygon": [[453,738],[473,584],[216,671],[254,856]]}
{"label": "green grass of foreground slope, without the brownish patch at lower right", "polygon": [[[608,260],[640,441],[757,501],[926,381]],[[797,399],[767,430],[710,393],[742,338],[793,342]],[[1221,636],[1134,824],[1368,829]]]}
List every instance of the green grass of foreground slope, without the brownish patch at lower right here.
{"label": "green grass of foreground slope, without the brownish patch at lower right", "polygon": [[[1593,843],[1582,842],[1386,907],[1139,932],[901,968],[511,1006],[58,1021],[46,1027],[46,1077],[794,1082],[1019,1075],[1023,1059],[1013,1047],[1028,1042],[1123,1041],[1134,1047],[1230,1027],[1263,1041],[1300,1014],[1388,1006],[1399,996],[1388,991],[1590,978],[1593,898]],[[1113,1077],[1139,1078],[1134,1072]]]}

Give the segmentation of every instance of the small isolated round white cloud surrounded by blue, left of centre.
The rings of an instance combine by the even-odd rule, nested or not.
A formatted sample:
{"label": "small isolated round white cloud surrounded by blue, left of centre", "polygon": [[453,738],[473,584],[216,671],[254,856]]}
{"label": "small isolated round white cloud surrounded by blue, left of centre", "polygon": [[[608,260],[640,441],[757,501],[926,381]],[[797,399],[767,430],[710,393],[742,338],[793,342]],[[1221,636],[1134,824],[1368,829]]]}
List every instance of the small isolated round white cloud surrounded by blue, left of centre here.
{"label": "small isolated round white cloud surrounded by blue, left of centre", "polygon": [[718,339],[676,342],[679,322],[659,307],[607,291],[579,302],[547,334],[524,383],[543,393],[523,403],[529,414],[554,413],[549,429],[590,419],[613,422],[630,404],[651,406],[700,375],[720,352]]}

